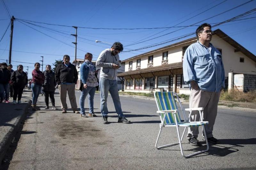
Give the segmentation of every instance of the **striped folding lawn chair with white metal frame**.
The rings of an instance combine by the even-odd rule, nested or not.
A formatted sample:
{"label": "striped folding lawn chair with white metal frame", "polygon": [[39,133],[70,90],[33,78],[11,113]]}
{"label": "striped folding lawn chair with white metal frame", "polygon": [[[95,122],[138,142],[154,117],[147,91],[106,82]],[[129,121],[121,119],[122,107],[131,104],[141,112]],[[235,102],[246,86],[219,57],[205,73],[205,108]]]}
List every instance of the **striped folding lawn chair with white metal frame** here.
{"label": "striped folding lawn chair with white metal frame", "polygon": [[[177,105],[176,105],[176,101],[174,99],[174,95],[177,97],[177,100],[180,104],[180,108],[182,110],[184,121],[182,121],[180,119],[180,114],[179,114],[179,111],[178,111],[178,108],[177,108]],[[160,149],[160,148],[165,148],[165,147],[180,144],[181,155],[184,156],[185,158],[188,158],[188,157],[191,157],[191,156],[194,156],[194,155],[197,155],[197,154],[208,151],[209,150],[209,144],[208,144],[208,140],[207,140],[207,137],[206,137],[204,125],[208,124],[209,122],[206,122],[206,121],[203,122],[202,111],[204,110],[204,108],[203,107],[198,107],[198,108],[185,109],[186,111],[189,111],[188,119],[186,119],[184,109],[181,106],[180,99],[179,99],[177,93],[175,93],[175,92],[155,92],[154,96],[155,96],[156,105],[157,105],[157,109],[158,109],[158,111],[156,113],[159,113],[160,120],[161,120],[160,131],[159,131],[157,139],[156,139],[156,145],[155,145],[156,148]],[[199,111],[199,115],[200,115],[200,119],[201,119],[200,122],[190,122],[189,121],[193,110],[198,110]],[[204,137],[205,137],[207,149],[203,150],[203,151],[192,153],[190,155],[184,155],[181,141],[183,139],[185,131],[186,131],[187,127],[196,127],[196,126],[203,126]],[[176,127],[177,133],[178,133],[178,138],[179,138],[178,143],[172,143],[172,144],[166,144],[166,145],[163,145],[163,146],[157,146],[158,139],[159,139],[161,131],[164,127]],[[179,127],[185,127],[181,138],[180,138]]]}

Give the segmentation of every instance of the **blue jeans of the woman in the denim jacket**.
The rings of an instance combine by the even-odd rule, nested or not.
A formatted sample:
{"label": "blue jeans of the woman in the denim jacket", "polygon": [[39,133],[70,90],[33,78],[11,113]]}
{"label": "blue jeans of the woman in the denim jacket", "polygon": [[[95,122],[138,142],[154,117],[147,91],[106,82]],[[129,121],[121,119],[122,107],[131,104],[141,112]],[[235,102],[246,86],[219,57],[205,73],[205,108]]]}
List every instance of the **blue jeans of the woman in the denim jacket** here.
{"label": "blue jeans of the woman in the denim jacket", "polygon": [[84,100],[87,96],[87,94],[89,94],[88,96],[88,100],[89,100],[89,113],[93,113],[93,99],[94,99],[94,94],[95,94],[95,89],[96,87],[89,87],[87,86],[87,89],[83,88],[83,92],[81,92],[81,96],[79,99],[79,103],[80,103],[80,113],[84,114]]}

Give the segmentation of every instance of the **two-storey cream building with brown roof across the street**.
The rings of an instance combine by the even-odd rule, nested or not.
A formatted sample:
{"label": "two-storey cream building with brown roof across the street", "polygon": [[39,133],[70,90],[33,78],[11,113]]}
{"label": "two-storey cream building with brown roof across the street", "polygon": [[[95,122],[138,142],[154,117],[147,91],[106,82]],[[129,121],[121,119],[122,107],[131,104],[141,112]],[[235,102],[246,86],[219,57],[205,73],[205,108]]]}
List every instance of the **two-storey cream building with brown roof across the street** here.
{"label": "two-storey cream building with brown roof across the street", "polygon": [[[183,55],[188,46],[196,41],[197,38],[193,37],[123,60],[125,72],[117,76],[125,79],[124,91],[160,90],[189,94],[189,87],[183,80]],[[220,29],[212,34],[211,43],[222,54],[226,88],[228,88],[228,73],[231,70],[232,78],[236,73],[256,75],[256,56]]]}

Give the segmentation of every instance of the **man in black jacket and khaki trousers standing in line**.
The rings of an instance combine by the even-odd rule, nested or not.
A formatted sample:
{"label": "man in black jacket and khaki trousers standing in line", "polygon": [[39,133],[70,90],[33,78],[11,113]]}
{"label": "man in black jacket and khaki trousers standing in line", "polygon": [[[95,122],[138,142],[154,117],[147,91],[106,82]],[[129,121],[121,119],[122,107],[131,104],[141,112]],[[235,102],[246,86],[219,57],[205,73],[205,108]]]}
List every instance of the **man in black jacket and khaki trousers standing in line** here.
{"label": "man in black jacket and khaki trousers standing in line", "polygon": [[78,74],[76,66],[69,63],[70,57],[68,55],[63,56],[63,63],[59,64],[55,72],[55,80],[59,85],[60,91],[60,102],[62,113],[67,113],[67,91],[68,98],[70,101],[71,108],[74,113],[79,113],[77,111],[75,86],[78,80]]}

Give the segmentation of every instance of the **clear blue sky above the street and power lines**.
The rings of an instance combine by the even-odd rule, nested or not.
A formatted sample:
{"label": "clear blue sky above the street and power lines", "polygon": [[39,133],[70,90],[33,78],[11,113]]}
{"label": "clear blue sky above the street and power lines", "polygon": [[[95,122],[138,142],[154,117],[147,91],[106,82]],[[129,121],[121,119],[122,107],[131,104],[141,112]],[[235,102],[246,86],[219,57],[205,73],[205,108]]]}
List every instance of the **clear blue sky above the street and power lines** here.
{"label": "clear blue sky above the street and power lines", "polygon": [[[4,34],[6,27],[10,22],[10,18],[6,13],[2,0],[0,0],[0,36]],[[246,3],[249,0],[208,0],[208,1],[138,1],[138,0],[94,0],[94,1],[67,1],[67,0],[4,0],[11,15],[18,19],[25,19],[37,22],[44,22],[50,24],[59,24],[67,26],[81,26],[81,27],[94,27],[94,28],[153,28],[153,27],[166,27],[166,26],[189,26],[195,24],[204,19],[210,18],[221,12],[227,11],[240,4]],[[220,4],[223,2],[222,4]],[[220,4],[220,5],[217,5]],[[217,5],[216,7],[213,7]],[[213,8],[212,8],[213,7]],[[212,8],[212,9],[210,9]],[[246,11],[250,11],[256,8],[256,1],[245,4],[232,11],[228,11],[219,16],[207,19],[196,25],[200,25],[204,22],[219,23],[227,19],[233,18]],[[209,10],[207,10],[209,9]],[[207,11],[205,11],[207,10]],[[205,11],[205,12],[203,12]],[[196,16],[197,14],[202,14]],[[244,18],[256,17],[255,11]],[[196,16],[194,18],[191,18]],[[191,19],[189,19],[191,18]],[[188,19],[188,20],[187,20]],[[242,19],[242,18],[240,18]],[[256,18],[240,20],[235,22],[229,22],[220,26],[212,28],[221,29],[228,34],[235,41],[240,43],[254,55],[256,54],[255,42],[256,34]],[[187,21],[185,21],[187,20]],[[180,23],[185,21],[183,23]],[[180,23],[180,24],[179,24]],[[21,63],[23,66],[29,66],[28,77],[31,77],[31,71],[34,68],[34,64],[41,60],[40,56],[44,56],[44,68],[45,64],[51,64],[55,59],[61,59],[63,55],[68,54],[71,56],[71,60],[74,60],[75,45],[71,42],[75,42],[75,37],[70,34],[75,34],[75,29],[72,27],[63,26],[50,26],[45,24],[36,25],[44,26],[54,30],[58,30],[61,33],[52,33],[45,28],[33,26],[28,23],[27,25],[41,31],[54,39],[37,32],[36,30],[20,23],[18,20],[14,21],[13,41],[12,41],[12,60],[27,62]],[[212,24],[214,25],[214,24]],[[95,40],[105,41],[113,43],[120,41],[124,45],[124,51],[129,49],[138,49],[161,41],[169,40],[187,33],[195,32],[197,26],[190,26],[181,30],[180,28],[170,29],[152,29],[152,30],[93,30],[78,28],[78,44],[77,58],[83,58],[86,52],[93,54],[93,60],[96,60],[100,52],[106,48],[110,48],[111,45],[104,43],[95,43]],[[178,30],[178,31],[176,31]],[[163,31],[163,32],[161,32]],[[174,33],[170,33],[176,31]],[[159,33],[161,32],[161,33]],[[65,34],[62,34],[65,33]],[[158,34],[156,34],[158,33]],[[132,46],[127,46],[133,42],[150,37],[154,38],[166,33],[168,35],[139,43]],[[154,35],[156,34],[156,35]],[[0,42],[0,62],[9,57],[9,44],[10,44],[10,27],[7,30],[3,40]],[[64,36],[63,36],[64,35]],[[180,39],[182,41],[194,35]],[[1,38],[0,37],[0,38]],[[150,39],[148,38],[148,39]],[[58,39],[59,41],[55,40]],[[145,39],[145,40],[148,40]],[[144,41],[145,41],[144,40]],[[62,43],[69,44],[70,46]],[[125,52],[120,54],[120,59],[124,60],[137,54],[160,48],[172,43],[173,41],[160,46],[143,49],[140,51],[132,51],[131,53]],[[127,47],[126,47],[127,46]],[[4,51],[6,49],[6,51]],[[23,52],[15,52],[23,51]],[[85,52],[86,51],[86,52]],[[30,52],[30,53],[24,53]],[[32,54],[39,53],[39,54]],[[52,55],[48,55],[52,54]],[[4,59],[4,60],[3,60]],[[40,62],[41,63],[41,62]],[[12,62],[14,70],[19,63]],[[24,67],[26,71],[27,67]],[[40,69],[41,70],[41,69]]]}

